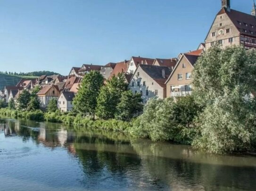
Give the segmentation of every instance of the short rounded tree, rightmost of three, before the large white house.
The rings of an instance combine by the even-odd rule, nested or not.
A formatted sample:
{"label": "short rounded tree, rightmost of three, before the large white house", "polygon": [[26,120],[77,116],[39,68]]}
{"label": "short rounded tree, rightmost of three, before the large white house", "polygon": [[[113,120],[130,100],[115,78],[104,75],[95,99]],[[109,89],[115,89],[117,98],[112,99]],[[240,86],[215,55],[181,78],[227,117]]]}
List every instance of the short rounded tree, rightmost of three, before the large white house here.
{"label": "short rounded tree, rightmost of three, before the large white house", "polygon": [[116,119],[130,121],[143,110],[140,93],[133,94],[131,90],[122,93],[120,102],[116,106]]}

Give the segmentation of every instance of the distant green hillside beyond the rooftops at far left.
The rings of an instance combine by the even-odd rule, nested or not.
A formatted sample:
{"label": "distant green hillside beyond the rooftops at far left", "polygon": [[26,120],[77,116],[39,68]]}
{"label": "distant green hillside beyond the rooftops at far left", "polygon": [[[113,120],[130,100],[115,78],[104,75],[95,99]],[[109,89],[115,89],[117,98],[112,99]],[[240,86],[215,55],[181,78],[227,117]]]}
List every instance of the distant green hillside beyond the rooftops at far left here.
{"label": "distant green hillside beyond the rooftops at far left", "polygon": [[37,76],[17,76],[0,74],[0,90],[3,90],[5,86],[16,85],[22,78],[33,79],[36,77]]}

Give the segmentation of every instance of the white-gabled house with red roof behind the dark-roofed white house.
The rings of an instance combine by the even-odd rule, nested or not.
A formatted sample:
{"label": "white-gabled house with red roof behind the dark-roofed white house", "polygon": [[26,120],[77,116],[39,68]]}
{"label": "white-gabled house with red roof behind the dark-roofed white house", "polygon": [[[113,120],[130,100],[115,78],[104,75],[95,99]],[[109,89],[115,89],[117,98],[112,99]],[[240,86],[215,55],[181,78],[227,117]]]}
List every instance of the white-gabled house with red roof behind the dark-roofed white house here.
{"label": "white-gabled house with red roof behind the dark-roofed white house", "polygon": [[132,56],[126,72],[129,74],[133,74],[133,72],[136,70],[139,64],[153,65],[154,60],[155,59],[151,59],[151,58],[142,58],[140,56],[139,57]]}

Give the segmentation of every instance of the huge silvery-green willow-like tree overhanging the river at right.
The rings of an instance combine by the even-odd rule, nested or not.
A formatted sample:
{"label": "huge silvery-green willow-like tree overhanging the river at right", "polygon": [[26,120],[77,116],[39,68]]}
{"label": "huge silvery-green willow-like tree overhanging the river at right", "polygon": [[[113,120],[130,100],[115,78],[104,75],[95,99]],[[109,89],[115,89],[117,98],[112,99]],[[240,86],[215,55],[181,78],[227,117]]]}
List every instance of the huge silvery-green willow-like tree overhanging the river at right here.
{"label": "huge silvery-green willow-like tree overhanging the river at right", "polygon": [[193,78],[196,101],[205,107],[193,145],[212,153],[255,146],[256,50],[213,47],[198,59]]}

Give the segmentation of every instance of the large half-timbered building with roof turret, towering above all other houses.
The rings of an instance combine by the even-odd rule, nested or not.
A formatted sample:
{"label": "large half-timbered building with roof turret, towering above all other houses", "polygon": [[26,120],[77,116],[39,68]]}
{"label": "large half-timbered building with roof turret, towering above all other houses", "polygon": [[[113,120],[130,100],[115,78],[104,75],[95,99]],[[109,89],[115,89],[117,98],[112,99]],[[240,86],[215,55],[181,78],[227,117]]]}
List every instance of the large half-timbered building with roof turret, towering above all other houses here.
{"label": "large half-timbered building with roof turret, towering above all other houses", "polygon": [[222,0],[222,8],[205,39],[205,47],[219,44],[222,47],[242,45],[246,49],[256,47],[256,6],[253,4],[251,15],[231,9],[231,0]]}

